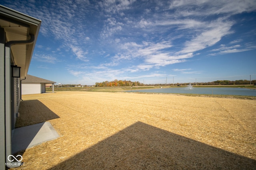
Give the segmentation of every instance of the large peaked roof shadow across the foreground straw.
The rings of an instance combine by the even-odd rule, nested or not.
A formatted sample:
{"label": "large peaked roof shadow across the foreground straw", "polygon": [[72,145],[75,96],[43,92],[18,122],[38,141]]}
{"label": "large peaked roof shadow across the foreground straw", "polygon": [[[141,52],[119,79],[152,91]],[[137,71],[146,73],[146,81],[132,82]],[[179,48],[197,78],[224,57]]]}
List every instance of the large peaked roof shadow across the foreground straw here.
{"label": "large peaked roof shadow across the foreground straw", "polygon": [[[64,155],[63,155],[64,156]],[[50,168],[255,169],[256,160],[136,122]]]}

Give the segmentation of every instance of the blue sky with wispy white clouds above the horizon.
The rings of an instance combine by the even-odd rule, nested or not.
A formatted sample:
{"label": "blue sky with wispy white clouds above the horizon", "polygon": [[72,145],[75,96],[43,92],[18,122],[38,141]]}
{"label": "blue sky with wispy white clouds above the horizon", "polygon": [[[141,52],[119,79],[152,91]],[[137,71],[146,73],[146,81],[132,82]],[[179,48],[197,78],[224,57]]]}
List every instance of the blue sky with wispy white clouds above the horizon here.
{"label": "blue sky with wispy white clouds above the horizon", "polygon": [[256,80],[256,0],[4,0],[42,20],[28,74],[62,84]]}

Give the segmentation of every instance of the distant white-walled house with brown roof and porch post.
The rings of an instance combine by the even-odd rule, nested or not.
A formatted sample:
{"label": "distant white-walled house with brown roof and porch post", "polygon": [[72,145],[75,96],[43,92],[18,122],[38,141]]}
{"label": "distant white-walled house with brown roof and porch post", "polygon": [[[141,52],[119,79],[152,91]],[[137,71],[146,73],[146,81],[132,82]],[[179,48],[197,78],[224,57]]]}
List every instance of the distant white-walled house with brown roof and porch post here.
{"label": "distant white-walled house with brown roof and porch post", "polygon": [[52,84],[52,92],[54,92],[54,83],[56,82],[27,74],[26,79],[21,80],[21,94],[45,93],[46,84]]}

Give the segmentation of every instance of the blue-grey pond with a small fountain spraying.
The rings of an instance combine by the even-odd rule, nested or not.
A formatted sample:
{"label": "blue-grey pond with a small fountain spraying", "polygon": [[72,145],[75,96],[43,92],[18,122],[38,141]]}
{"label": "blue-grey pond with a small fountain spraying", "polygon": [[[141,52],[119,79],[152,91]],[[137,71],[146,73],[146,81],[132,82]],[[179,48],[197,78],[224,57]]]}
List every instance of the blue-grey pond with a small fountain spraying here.
{"label": "blue-grey pond with a small fountain spraying", "polygon": [[149,92],[149,93],[178,93],[178,94],[222,94],[222,95],[239,95],[239,96],[256,96],[256,89],[248,88],[157,88],[147,90],[130,90],[126,92]]}

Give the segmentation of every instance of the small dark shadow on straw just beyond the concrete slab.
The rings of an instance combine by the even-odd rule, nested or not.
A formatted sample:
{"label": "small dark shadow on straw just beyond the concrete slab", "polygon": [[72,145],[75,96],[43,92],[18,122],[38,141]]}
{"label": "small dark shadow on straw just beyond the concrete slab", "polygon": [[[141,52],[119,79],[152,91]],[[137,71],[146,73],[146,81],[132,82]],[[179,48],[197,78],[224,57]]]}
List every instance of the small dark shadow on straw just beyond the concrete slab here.
{"label": "small dark shadow on straw just beyond the concrete slab", "polygon": [[60,118],[39,100],[21,101],[19,112],[20,117],[16,120],[15,128]]}

